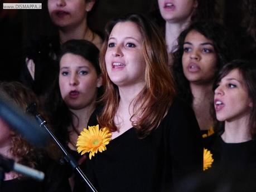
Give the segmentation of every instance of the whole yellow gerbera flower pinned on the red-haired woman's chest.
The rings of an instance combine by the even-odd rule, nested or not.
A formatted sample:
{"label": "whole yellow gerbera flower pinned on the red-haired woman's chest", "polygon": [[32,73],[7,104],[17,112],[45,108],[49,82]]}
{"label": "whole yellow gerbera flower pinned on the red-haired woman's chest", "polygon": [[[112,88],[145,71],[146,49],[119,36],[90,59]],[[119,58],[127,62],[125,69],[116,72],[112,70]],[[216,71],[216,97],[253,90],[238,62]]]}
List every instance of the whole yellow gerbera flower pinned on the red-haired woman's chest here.
{"label": "whole yellow gerbera flower pinned on the red-haired woman's chest", "polygon": [[81,155],[90,152],[89,159],[98,151],[102,152],[107,149],[106,145],[111,140],[112,133],[106,128],[99,129],[99,125],[88,126],[88,129],[81,131],[78,142],[76,142],[77,150]]}

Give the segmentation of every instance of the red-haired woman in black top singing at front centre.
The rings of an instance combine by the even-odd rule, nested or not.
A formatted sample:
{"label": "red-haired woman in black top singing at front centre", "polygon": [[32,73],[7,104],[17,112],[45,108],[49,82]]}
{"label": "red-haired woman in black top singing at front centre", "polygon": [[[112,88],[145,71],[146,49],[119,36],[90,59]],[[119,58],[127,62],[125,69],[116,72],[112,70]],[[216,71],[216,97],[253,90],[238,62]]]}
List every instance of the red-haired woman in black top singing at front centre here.
{"label": "red-haired woman in black top singing at front centre", "polygon": [[[170,191],[202,170],[199,127],[192,110],[176,98],[167,62],[165,41],[148,19],[129,14],[108,23],[100,55],[102,129],[91,134],[104,132],[111,141],[105,151],[91,149],[86,160],[86,175],[99,191]],[[88,152],[102,144],[93,138],[85,130],[78,146]],[[103,152],[94,154],[98,150]]]}

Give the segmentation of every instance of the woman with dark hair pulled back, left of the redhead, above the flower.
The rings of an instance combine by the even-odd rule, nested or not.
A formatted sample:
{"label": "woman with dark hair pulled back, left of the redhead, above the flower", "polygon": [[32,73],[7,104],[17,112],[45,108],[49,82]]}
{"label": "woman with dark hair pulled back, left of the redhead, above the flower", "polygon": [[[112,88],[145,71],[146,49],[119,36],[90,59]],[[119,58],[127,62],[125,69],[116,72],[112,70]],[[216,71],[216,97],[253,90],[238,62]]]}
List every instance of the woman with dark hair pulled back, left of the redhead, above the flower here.
{"label": "woman with dark hair pulled back, left of the redhead, above the flower", "polygon": [[[96,100],[100,96],[102,77],[98,59],[99,50],[89,41],[64,43],[58,57],[59,77],[46,97],[55,135],[79,164],[83,163],[85,156],[76,152],[76,140],[89,119],[96,121],[99,109]],[[71,186],[73,182],[70,180]]]}

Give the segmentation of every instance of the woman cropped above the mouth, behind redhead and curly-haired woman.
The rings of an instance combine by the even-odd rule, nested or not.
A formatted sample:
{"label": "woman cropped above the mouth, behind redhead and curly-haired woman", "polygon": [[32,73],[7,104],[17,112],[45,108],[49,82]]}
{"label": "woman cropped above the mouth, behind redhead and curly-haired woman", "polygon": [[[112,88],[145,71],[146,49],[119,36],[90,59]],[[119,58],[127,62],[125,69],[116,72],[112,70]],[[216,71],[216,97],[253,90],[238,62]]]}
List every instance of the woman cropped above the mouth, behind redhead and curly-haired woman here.
{"label": "woman cropped above the mouth, behind redhead and curly-haired woman", "polygon": [[[192,21],[217,18],[216,0],[158,0],[158,8],[165,20],[163,31],[170,56],[175,51],[178,36]],[[170,57],[169,64],[172,65],[172,57]]]}

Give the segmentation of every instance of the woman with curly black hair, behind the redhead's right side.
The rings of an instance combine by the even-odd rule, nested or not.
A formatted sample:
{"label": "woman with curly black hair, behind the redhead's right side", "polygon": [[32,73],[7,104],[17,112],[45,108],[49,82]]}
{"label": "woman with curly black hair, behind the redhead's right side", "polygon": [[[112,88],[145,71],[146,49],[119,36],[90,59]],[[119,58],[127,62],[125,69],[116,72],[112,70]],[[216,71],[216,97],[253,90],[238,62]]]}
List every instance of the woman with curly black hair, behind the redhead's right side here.
{"label": "woman with curly black hair, behind the redhead's right side", "polygon": [[231,35],[221,24],[195,22],[181,32],[173,53],[178,95],[191,105],[200,129],[206,132],[214,125],[212,83],[219,68],[235,57],[234,47]]}

